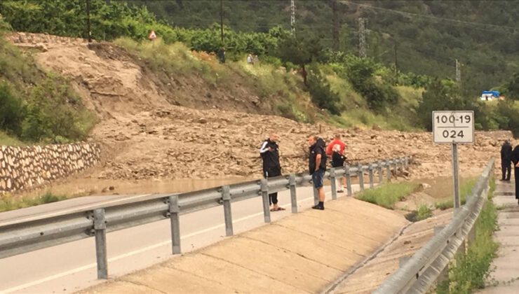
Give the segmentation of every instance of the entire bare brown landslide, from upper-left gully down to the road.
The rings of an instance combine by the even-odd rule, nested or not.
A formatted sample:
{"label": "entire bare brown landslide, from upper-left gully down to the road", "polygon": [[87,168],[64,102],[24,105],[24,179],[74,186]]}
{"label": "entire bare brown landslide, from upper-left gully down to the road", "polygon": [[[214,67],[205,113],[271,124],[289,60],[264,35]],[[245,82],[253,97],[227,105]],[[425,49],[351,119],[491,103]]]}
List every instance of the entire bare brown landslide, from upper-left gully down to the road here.
{"label": "entire bare brown landslide, from upper-left gully down to the road", "polygon": [[[100,179],[260,176],[257,151],[269,132],[281,135],[284,173],[306,170],[309,134],[330,139],[336,132],[344,136],[353,161],[414,155],[413,177],[451,173],[450,147],[433,146],[429,133],[342,130],[254,114],[268,113],[270,106],[246,88],[218,90],[196,76],[164,85],[140,60],[109,43],[34,34],[15,34],[11,41],[39,48],[41,65],[69,76],[100,117],[90,136],[105,146],[106,160],[92,175]],[[461,146],[462,173],[479,174],[492,155],[499,155],[499,140],[509,137],[481,132],[476,144]]]}

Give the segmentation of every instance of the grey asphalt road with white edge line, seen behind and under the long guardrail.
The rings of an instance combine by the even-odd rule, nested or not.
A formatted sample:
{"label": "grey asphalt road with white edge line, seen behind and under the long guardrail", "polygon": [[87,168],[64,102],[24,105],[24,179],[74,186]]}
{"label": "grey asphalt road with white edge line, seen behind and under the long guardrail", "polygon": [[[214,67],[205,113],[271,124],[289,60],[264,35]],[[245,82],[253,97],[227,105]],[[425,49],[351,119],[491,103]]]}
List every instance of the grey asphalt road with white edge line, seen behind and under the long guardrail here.
{"label": "grey asphalt road with white edge line, seen behind and under the long guardrail", "polygon": [[[327,198],[331,199],[329,192]],[[311,187],[298,188],[297,199],[298,209],[311,207],[314,204]],[[0,222],[123,200],[127,197],[81,197],[0,214]],[[279,193],[279,202],[287,210],[271,213],[272,221],[290,215],[288,191]],[[232,214],[235,234],[264,224],[260,197],[233,203]],[[183,253],[222,240],[225,236],[223,207],[180,216],[180,232]],[[109,277],[149,267],[172,257],[170,222],[158,221],[110,232],[107,244]],[[0,259],[0,293],[71,293],[100,283],[96,273],[94,238],[82,239]]]}

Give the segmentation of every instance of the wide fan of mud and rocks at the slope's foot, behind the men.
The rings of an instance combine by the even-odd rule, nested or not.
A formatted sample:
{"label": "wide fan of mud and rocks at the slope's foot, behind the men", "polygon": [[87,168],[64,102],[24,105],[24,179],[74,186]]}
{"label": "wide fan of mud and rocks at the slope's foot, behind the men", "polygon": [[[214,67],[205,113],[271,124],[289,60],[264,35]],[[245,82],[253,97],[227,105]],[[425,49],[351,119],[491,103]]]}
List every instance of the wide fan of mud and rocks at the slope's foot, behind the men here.
{"label": "wide fan of mud and rocks at the slope's foot, behind the men", "polygon": [[[283,173],[306,170],[306,139],[330,141],[341,134],[350,163],[412,155],[412,177],[451,174],[450,146],[434,145],[424,132],[344,130],[309,125],[277,116],[227,111],[198,111],[178,106],[143,111],[126,121],[97,128],[93,137],[118,150],[105,162],[102,179],[182,179],[260,176],[259,148],[269,133],[280,135]],[[461,173],[475,175],[499,155],[508,132],[478,132],[476,144],[459,146]],[[116,147],[116,146],[127,146]]]}

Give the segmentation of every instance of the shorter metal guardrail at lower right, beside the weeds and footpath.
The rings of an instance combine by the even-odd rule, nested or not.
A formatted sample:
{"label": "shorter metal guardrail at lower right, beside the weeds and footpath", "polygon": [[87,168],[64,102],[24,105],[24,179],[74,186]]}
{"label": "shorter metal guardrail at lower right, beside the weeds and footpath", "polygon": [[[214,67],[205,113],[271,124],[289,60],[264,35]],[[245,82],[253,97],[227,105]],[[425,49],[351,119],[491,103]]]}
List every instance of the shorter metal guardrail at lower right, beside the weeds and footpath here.
{"label": "shorter metal guardrail at lower right, beside the weeds and footpath", "polygon": [[447,274],[450,260],[459,251],[465,253],[465,242],[471,244],[476,237],[474,224],[487,199],[494,165],[495,159],[492,158],[467,197],[466,204],[454,211],[452,221],[445,228],[435,228],[433,239],[401,264],[398,271],[375,290],[375,294],[427,293],[438,279]]}

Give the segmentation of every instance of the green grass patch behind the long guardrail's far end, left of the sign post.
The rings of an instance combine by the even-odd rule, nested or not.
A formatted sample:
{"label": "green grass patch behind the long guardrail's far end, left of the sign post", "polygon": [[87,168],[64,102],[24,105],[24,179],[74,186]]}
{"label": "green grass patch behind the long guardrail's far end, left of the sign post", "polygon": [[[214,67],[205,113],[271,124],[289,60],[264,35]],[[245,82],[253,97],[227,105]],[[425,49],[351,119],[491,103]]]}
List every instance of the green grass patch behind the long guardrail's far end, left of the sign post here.
{"label": "green grass patch behind the long guardrail's far end, left of the sign post", "polygon": [[393,209],[396,202],[413,193],[417,187],[417,183],[386,183],[377,188],[364,190],[357,198],[387,209]]}

